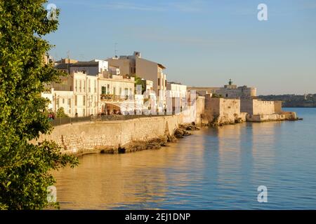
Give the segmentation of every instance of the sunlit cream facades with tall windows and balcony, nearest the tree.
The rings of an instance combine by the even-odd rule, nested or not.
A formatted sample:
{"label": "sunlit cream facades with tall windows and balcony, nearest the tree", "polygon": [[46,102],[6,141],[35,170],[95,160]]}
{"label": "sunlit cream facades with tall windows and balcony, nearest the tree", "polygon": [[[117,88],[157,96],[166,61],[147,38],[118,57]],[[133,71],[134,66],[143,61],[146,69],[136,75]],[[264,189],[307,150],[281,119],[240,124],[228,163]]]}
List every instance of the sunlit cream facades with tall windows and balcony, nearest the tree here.
{"label": "sunlit cream facades with tall windows and balcony, nearest the tree", "polygon": [[90,76],[85,70],[72,71],[60,79],[60,83],[51,83],[51,92],[42,96],[50,99],[48,106],[55,113],[62,107],[70,117],[119,111],[115,106],[117,102],[133,97],[135,91],[133,77],[124,78],[105,72]]}

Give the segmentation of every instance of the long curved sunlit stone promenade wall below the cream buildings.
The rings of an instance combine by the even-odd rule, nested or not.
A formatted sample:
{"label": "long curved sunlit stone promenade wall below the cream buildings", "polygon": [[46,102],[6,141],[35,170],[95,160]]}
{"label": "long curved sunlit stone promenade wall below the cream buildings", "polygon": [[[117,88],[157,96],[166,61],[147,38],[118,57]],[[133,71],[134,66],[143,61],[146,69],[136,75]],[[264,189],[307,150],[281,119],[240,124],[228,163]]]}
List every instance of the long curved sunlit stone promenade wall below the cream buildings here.
{"label": "long curved sunlit stone promenade wall below the cream buildings", "polygon": [[106,146],[124,146],[131,141],[147,141],[174,134],[182,116],[157,116],[120,121],[83,122],[60,125],[43,139],[56,141],[64,151],[95,151]]}

